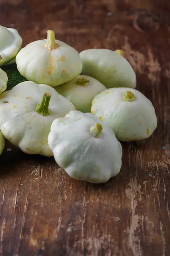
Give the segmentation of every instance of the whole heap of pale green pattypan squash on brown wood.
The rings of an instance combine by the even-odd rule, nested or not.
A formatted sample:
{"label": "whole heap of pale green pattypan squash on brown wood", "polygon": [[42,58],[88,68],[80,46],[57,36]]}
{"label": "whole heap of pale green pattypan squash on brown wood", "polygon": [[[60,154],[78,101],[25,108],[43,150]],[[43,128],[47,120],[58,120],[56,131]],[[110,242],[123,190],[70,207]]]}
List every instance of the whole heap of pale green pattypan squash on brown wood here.
{"label": "whole heap of pale green pattypan squash on brown wood", "polygon": [[16,61],[28,80],[5,91],[8,77],[0,69],[0,154],[5,137],[27,154],[54,155],[77,180],[104,183],[117,175],[119,140],[146,139],[157,126],[122,51],[79,54],[51,30],[47,39],[21,45],[17,30],[0,26],[0,67]]}

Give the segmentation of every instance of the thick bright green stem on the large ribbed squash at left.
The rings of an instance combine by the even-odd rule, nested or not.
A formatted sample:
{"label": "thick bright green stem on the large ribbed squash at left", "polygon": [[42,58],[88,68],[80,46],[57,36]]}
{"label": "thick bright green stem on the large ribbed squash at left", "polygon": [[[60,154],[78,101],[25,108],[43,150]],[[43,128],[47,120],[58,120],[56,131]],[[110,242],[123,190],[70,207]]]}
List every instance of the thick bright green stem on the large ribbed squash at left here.
{"label": "thick bright green stem on the large ribbed squash at left", "polygon": [[48,111],[50,99],[51,99],[51,94],[44,93],[42,97],[42,102],[40,104],[37,104],[36,106],[36,112],[41,114],[42,116],[48,116],[50,114]]}

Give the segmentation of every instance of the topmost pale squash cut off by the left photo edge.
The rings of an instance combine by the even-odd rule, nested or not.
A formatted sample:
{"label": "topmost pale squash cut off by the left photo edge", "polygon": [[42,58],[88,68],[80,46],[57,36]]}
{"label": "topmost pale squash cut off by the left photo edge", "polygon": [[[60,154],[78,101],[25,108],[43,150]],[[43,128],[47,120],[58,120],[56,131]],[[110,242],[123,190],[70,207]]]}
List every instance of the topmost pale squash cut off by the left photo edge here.
{"label": "topmost pale squash cut off by the left photo edge", "polygon": [[0,67],[17,55],[22,43],[23,39],[16,29],[0,26]]}

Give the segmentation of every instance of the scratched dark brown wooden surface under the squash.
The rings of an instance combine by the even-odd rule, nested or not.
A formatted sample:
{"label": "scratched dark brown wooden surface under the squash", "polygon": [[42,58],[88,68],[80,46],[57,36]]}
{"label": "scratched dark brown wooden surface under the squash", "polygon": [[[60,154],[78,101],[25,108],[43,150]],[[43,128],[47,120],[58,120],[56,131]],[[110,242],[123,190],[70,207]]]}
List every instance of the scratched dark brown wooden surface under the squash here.
{"label": "scratched dark brown wooden surface under the squash", "polygon": [[169,13],[169,0],[0,0],[0,24],[23,45],[53,29],[78,51],[122,49],[158,116],[152,137],[122,143],[121,172],[104,185],[75,181],[52,157],[7,143],[0,255],[170,256]]}

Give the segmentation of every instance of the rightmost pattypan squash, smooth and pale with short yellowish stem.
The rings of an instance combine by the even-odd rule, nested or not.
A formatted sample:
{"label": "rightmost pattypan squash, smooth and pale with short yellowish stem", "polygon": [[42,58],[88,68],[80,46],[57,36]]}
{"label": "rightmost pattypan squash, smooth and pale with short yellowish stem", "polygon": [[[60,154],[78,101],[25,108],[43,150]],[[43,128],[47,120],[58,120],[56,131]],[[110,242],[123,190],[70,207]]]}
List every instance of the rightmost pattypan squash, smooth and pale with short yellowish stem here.
{"label": "rightmost pattypan squash, smooth and pale with short yellowish stem", "polygon": [[152,103],[132,88],[103,91],[94,97],[91,112],[110,126],[117,139],[122,141],[146,139],[157,127]]}

